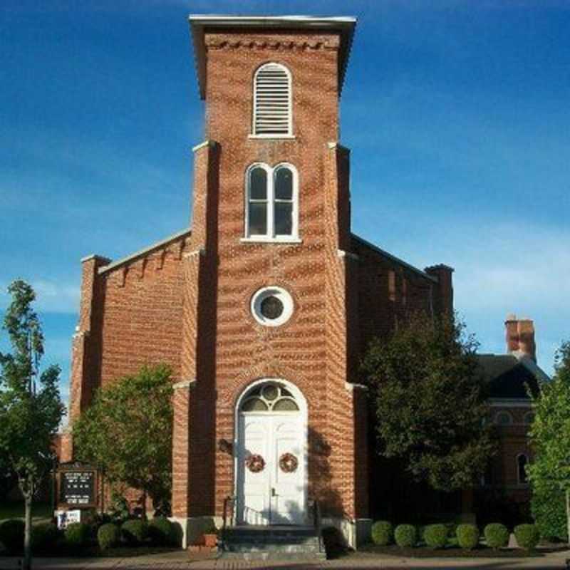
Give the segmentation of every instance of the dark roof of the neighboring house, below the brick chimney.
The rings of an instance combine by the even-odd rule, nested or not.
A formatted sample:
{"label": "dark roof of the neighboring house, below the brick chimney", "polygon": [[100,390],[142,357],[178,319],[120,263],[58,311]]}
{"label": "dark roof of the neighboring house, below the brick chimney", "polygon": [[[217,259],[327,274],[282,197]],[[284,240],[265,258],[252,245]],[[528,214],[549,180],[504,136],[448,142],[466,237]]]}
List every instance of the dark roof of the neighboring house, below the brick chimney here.
{"label": "dark roof of the neighboring house, below the brick chimney", "polygon": [[477,361],[489,388],[489,398],[528,399],[527,386],[533,393],[539,390],[539,374],[512,354],[478,354]]}

